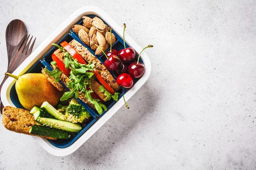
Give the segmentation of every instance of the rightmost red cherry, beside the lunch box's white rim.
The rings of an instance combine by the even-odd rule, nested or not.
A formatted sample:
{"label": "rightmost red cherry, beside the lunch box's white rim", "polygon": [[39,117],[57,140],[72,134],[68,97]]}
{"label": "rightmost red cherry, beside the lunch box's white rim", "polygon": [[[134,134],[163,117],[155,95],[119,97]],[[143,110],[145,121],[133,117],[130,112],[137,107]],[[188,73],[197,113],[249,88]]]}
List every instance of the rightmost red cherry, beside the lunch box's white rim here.
{"label": "rightmost red cherry, beside the lunch box's white rim", "polygon": [[145,65],[142,62],[132,62],[128,67],[128,73],[133,78],[140,78],[145,72]]}

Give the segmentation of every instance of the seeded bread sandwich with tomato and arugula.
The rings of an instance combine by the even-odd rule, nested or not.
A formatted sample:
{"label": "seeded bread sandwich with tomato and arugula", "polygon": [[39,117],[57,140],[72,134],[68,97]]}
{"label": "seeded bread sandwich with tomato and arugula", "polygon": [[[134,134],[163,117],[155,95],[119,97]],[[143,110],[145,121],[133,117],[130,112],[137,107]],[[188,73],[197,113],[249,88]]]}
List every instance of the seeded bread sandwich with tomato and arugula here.
{"label": "seeded bread sandwich with tomato and arugula", "polygon": [[59,91],[64,87],[59,80],[69,88],[61,100],[66,100],[75,94],[90,108],[102,114],[107,110],[104,102],[117,100],[120,86],[116,79],[90,51],[76,40],[69,43],[61,42],[61,46],[53,44],[58,49],[52,54],[52,71],[47,68],[42,73]]}

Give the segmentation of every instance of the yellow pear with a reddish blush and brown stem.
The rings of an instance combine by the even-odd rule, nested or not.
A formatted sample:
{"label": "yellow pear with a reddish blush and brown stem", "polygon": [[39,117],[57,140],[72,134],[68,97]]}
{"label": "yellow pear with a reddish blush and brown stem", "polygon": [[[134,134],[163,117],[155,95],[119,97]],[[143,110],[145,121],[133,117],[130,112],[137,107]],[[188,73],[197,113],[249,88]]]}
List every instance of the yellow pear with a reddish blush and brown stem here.
{"label": "yellow pear with a reddish blush and brown stem", "polygon": [[45,101],[55,106],[61,98],[61,92],[41,73],[28,73],[20,77],[9,73],[5,75],[17,79],[16,92],[20,104],[27,110],[31,110],[34,106],[40,107]]}

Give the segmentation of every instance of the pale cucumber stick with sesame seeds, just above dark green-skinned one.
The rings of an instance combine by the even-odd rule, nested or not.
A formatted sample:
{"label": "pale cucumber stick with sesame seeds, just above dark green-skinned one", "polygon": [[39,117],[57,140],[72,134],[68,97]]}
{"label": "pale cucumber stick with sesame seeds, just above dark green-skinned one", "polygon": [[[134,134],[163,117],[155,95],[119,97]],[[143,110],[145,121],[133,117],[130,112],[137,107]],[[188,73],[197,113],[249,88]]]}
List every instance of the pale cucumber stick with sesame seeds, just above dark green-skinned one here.
{"label": "pale cucumber stick with sesame seeds, just above dark green-skinned one", "polygon": [[38,117],[37,119],[35,119],[35,121],[40,123],[41,125],[46,125],[49,127],[53,127],[55,129],[61,129],[68,132],[77,133],[82,129],[82,127],[79,124],[57,120],[57,119]]}

